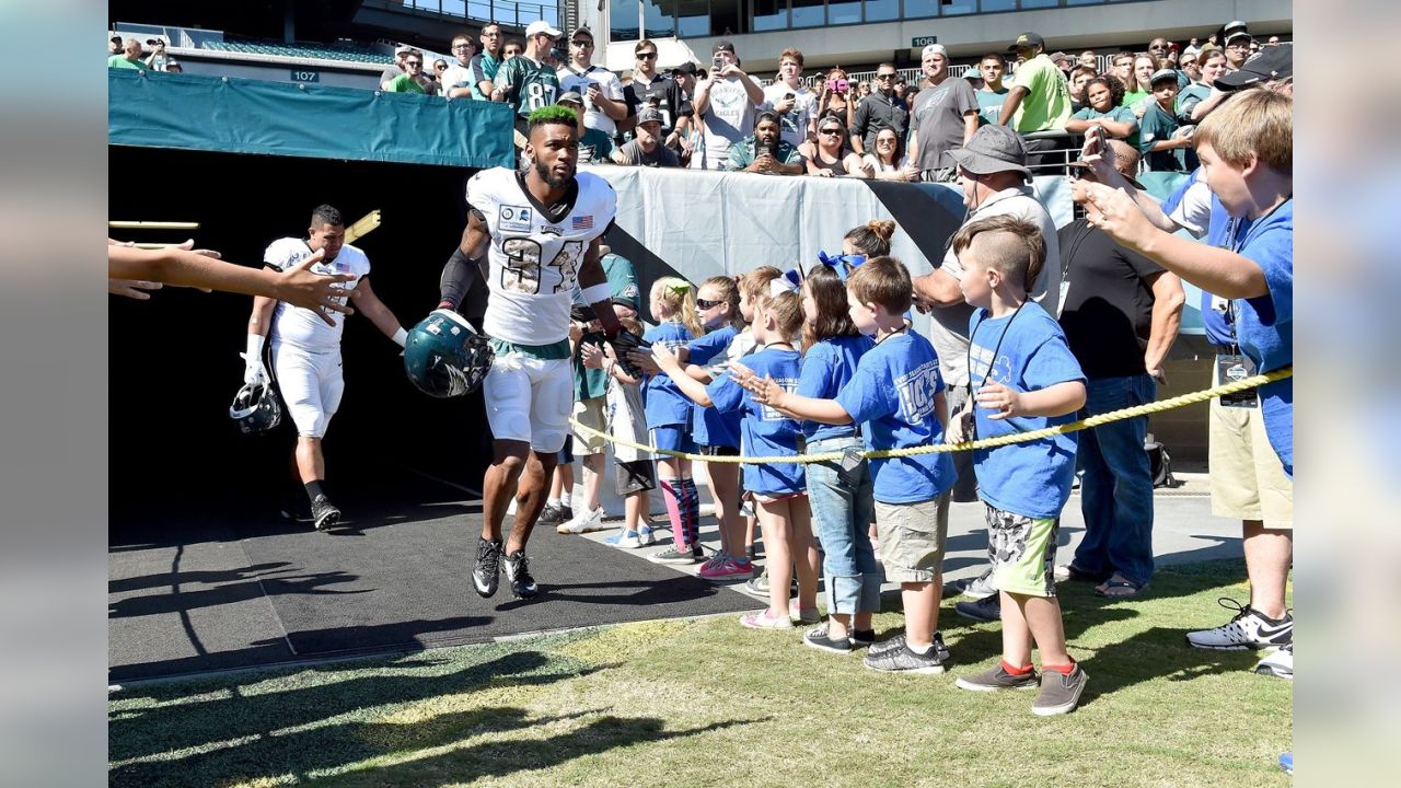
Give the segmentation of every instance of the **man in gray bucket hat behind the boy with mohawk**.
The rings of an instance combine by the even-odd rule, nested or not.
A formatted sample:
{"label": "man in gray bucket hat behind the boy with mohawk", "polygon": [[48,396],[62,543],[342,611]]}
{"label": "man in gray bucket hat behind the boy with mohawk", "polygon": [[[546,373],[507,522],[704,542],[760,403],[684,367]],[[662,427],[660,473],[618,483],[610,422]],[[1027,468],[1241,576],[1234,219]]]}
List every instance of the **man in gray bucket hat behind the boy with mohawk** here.
{"label": "man in gray bucket hat behind the boy with mohawk", "polygon": [[[1010,213],[1041,229],[1047,245],[1047,261],[1037,280],[1030,283],[1027,293],[1052,317],[1059,313],[1061,301],[1061,250],[1056,244],[1055,223],[1041,206],[1027,181],[1027,147],[1016,132],[1006,126],[988,125],[974,132],[968,144],[948,151],[958,165],[958,182],[964,191],[964,224],[988,216]],[[968,400],[968,318],[972,307],[964,301],[958,279],[962,265],[950,250],[933,272],[916,276],[915,304],[933,318],[929,325],[929,339],[939,352],[939,372],[948,386],[948,409],[954,411]],[[958,481],[954,484],[954,501],[975,501],[975,480],[972,454],[954,453],[954,467]],[[996,589],[986,579],[974,583],[968,593],[991,595],[998,599]],[[965,590],[962,586],[958,590]]]}

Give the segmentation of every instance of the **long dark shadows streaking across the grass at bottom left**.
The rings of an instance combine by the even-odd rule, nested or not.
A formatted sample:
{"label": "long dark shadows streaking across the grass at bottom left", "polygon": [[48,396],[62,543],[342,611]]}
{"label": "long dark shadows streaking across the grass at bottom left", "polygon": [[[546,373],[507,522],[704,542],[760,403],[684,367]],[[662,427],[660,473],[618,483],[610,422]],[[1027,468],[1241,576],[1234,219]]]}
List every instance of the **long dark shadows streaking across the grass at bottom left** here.
{"label": "long dark shadows streaking across the grass at bottom left", "polygon": [[[423,659],[395,663],[388,669],[432,666],[443,660]],[[108,771],[108,785],[160,788],[165,785],[233,784],[261,777],[294,774],[307,780],[317,771],[343,767],[377,756],[450,746],[483,738],[475,747],[453,749],[422,760],[343,775],[373,785],[423,784],[423,771],[437,768],[430,782],[450,774],[451,781],[503,775],[518,770],[544,768],[570,759],[621,746],[664,742],[747,725],[759,719],[723,721],[703,728],[664,731],[656,718],[623,718],[608,709],[532,718],[523,708],[489,707],[448,711],[416,722],[328,722],[335,716],[374,705],[394,707],[434,697],[497,691],[518,686],[541,686],[587,676],[609,666],[580,667],[558,663],[541,652],[520,652],[465,667],[447,676],[373,676],[321,687],[265,694],[233,695],[167,708],[115,712],[108,724],[109,759],[122,761],[160,753],[213,746],[210,752],[161,761],[132,763]],[[333,672],[335,669],[326,669]],[[198,691],[198,687],[193,688]],[[160,691],[160,690],[157,690]],[[171,687],[172,697],[185,697],[192,687]],[[144,694],[144,693],[143,693]],[[468,701],[469,702],[469,701]],[[394,708],[385,709],[391,716]],[[552,722],[602,715],[579,731],[542,742],[493,746],[493,736],[538,729]],[[319,724],[319,725],[318,725]],[[303,726],[301,731],[294,728]],[[293,729],[293,731],[289,731]],[[240,740],[244,739],[244,740]],[[223,746],[220,746],[223,745]],[[503,753],[503,749],[507,752]]]}

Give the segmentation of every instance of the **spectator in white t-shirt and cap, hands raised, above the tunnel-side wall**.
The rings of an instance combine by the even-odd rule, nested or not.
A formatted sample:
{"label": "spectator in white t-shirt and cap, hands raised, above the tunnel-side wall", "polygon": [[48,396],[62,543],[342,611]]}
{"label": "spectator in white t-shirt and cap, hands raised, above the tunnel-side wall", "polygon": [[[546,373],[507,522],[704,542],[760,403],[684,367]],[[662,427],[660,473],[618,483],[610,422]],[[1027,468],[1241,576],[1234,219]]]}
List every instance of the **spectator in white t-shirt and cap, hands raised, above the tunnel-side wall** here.
{"label": "spectator in white t-shirt and cap, hands raised, above the tunnel-side wall", "polygon": [[710,48],[710,79],[696,86],[691,101],[705,132],[705,144],[691,157],[691,168],[724,170],[730,146],[754,133],[754,116],[762,104],[764,87],[740,69],[734,45],[716,41]]}

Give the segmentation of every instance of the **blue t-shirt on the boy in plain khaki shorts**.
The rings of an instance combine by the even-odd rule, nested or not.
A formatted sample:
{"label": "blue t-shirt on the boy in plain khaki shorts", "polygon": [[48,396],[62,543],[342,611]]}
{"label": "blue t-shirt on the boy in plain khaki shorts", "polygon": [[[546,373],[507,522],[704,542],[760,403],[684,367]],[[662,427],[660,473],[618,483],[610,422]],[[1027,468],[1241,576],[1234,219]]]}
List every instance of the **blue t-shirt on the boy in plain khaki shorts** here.
{"label": "blue t-shirt on the boy in plain khaki shorts", "polygon": [[[913,331],[892,334],[856,362],[836,402],[862,422],[866,447],[905,449],[944,442],[934,397],[944,390],[934,346]],[[881,503],[933,501],[954,484],[947,453],[873,458],[871,487]]]}

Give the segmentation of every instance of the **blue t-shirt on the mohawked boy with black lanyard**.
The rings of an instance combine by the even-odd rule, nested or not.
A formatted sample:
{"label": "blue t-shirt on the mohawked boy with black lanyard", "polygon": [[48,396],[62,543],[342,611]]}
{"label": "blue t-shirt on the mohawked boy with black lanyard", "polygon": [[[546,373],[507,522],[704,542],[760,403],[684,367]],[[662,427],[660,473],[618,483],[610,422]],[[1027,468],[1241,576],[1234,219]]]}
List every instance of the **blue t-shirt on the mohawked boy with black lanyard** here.
{"label": "blue t-shirt on the mohawked boy with black lanyard", "polygon": [[[968,380],[974,395],[988,383],[1002,383],[1020,393],[1040,391],[1058,383],[1084,383],[1080,362],[1061,324],[1035,301],[1027,301],[1016,314],[993,318],[979,308],[968,320],[971,356]],[[993,352],[998,358],[993,359]],[[1031,432],[1076,421],[1063,416],[1017,416],[993,421],[992,411],[974,407],[978,437],[998,437]],[[1059,517],[1070,499],[1075,480],[1076,435],[1056,435],[1028,443],[1013,443],[974,450],[978,492],[984,501],[1003,512],[1024,517]]]}

